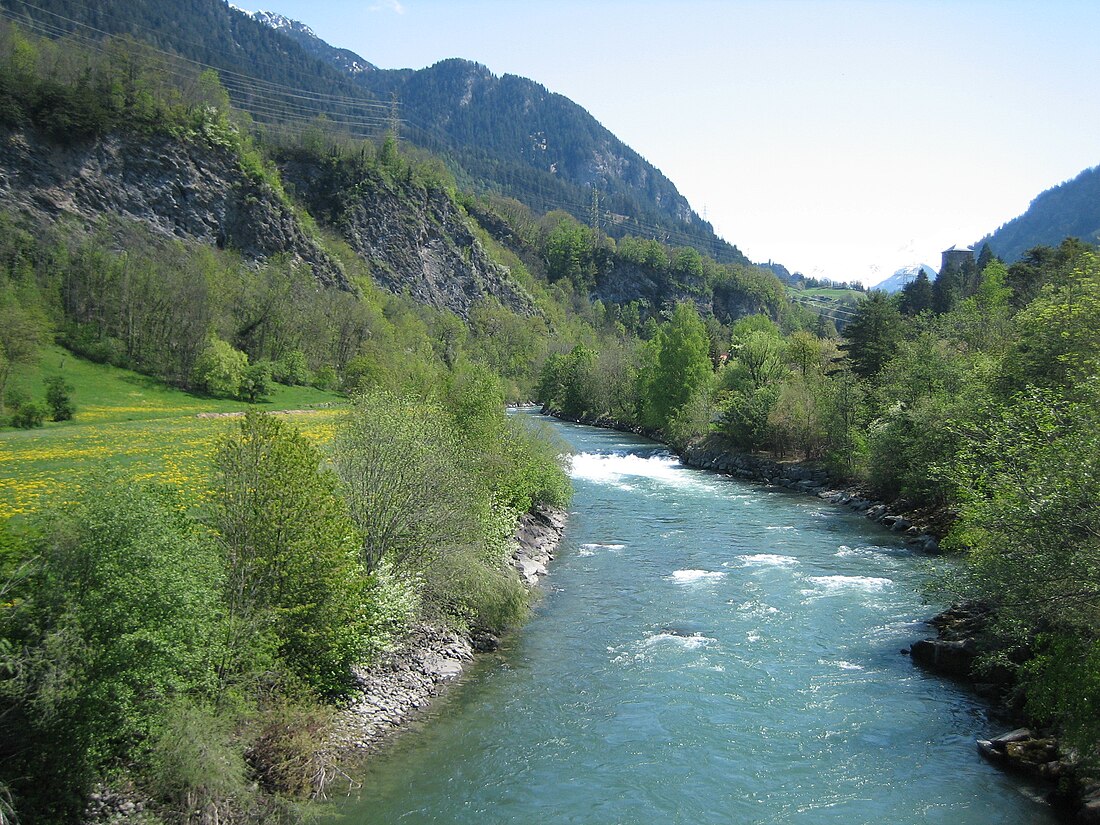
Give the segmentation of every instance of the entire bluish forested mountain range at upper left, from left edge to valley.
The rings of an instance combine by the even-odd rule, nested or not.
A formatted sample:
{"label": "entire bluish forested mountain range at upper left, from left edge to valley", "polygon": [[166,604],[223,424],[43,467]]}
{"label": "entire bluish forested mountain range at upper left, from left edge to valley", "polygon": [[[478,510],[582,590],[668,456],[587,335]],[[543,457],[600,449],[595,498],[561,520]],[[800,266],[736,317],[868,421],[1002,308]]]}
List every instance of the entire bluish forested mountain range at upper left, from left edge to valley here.
{"label": "entire bluish forested mountain range at upper left, from left edge to valley", "polygon": [[[393,124],[403,141],[443,158],[459,184],[515,198],[537,213],[561,209],[612,237],[695,246],[749,263],[694,212],[675,186],[582,107],[521,77],[448,59],[426,69],[378,69],[275,12],[224,0],[0,0],[0,16],[46,36],[130,35],[158,53],[218,69],[233,103],[260,124],[302,131],[323,116],[354,136]],[[151,59],[164,59],[153,53]]]}

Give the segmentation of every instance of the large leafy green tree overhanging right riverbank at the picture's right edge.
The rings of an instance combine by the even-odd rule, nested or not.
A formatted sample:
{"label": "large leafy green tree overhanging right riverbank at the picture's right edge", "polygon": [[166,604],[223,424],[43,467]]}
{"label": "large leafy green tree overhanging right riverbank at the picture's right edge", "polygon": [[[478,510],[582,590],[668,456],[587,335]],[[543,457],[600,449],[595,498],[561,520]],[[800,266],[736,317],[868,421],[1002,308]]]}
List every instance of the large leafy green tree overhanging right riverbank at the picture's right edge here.
{"label": "large leafy green tree overhanging right riverbank at the picture's right edge", "polygon": [[1020,671],[1027,708],[1082,754],[1098,754],[1100,717],[1100,395],[1031,388],[986,405],[975,438],[947,469],[967,551],[956,591],[993,608],[997,663]]}

